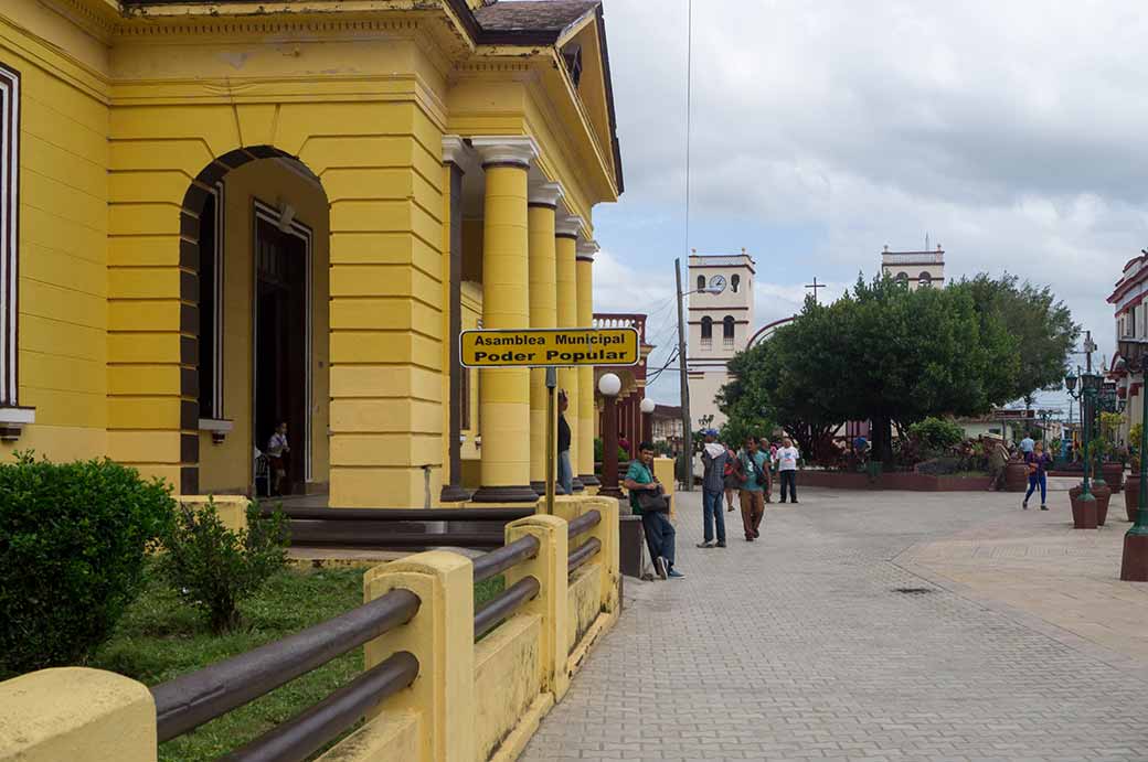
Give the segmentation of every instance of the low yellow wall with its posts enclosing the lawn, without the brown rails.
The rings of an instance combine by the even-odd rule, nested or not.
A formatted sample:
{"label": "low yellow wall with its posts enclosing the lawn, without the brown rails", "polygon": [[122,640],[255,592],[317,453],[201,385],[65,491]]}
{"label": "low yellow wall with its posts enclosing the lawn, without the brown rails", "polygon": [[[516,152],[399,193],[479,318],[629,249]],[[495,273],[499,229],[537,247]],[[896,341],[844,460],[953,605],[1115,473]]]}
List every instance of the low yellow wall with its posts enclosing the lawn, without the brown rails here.
{"label": "low yellow wall with its posts enclosing the lawn, without the brown rails", "polygon": [[[180,498],[202,505],[207,497]],[[216,498],[233,526],[246,500]],[[537,555],[506,570],[507,584],[527,575],[538,596],[474,643],[474,575],[470,559],[419,553],[372,568],[364,597],[410,590],[418,614],[366,644],[365,668],[398,652],[419,663],[410,687],[367,713],[367,721],[325,762],[511,762],[542,717],[566,694],[589,647],[619,615],[616,500],[565,497],[561,512],[602,512],[577,538],[603,552],[567,574],[568,526],[557,515],[507,524],[507,538],[538,538]],[[48,669],[0,683],[0,762],[156,762],[156,716],[144,685],[91,669]]]}

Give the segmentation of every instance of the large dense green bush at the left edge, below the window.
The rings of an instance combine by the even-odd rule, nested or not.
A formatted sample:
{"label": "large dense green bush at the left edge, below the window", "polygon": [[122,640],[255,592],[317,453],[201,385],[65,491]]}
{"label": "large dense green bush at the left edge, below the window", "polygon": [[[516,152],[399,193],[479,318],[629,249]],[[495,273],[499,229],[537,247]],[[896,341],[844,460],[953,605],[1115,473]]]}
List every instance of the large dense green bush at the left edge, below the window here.
{"label": "large dense green bush at the left edge, below the window", "polygon": [[0,465],[0,671],[83,662],[111,635],[170,492],[106,459]]}

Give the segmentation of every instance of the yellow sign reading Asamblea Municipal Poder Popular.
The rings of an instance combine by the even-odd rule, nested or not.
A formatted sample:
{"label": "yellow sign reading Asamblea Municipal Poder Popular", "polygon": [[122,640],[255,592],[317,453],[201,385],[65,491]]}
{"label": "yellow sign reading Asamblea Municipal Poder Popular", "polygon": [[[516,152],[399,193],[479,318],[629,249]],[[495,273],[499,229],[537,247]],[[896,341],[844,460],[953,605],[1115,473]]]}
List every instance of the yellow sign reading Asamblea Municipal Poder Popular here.
{"label": "yellow sign reading Asamblea Municipal Poder Popular", "polygon": [[489,328],[464,331],[465,367],[568,367],[637,365],[635,328]]}

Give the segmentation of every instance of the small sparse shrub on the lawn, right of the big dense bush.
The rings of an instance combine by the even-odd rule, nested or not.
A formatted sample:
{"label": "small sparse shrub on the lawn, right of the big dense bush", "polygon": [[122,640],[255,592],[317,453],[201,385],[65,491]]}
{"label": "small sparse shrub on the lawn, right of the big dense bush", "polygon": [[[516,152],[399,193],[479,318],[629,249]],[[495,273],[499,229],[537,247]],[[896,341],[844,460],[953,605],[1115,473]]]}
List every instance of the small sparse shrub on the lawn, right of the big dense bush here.
{"label": "small sparse shrub on the lawn, right of the big dense bush", "polygon": [[276,510],[261,518],[255,503],[247,505],[247,529],[224,526],[215,500],[180,506],[163,537],[160,573],[208,620],[212,632],[239,624],[239,602],[287,563],[287,519]]}

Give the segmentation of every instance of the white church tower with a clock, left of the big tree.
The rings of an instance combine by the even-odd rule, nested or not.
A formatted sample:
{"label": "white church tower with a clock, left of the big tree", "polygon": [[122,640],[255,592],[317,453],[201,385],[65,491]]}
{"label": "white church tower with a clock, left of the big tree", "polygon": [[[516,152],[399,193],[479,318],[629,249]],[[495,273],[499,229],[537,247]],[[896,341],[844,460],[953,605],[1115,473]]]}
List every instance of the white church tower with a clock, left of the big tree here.
{"label": "white church tower with a clock, left of the big tree", "polygon": [[745,350],[753,327],[753,259],[737,255],[690,255],[687,370],[695,428],[706,415],[726,422],[714,397],[729,381],[727,364]]}

